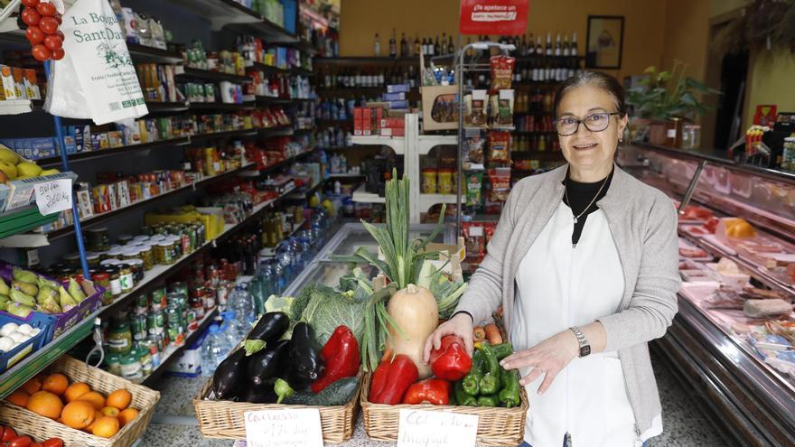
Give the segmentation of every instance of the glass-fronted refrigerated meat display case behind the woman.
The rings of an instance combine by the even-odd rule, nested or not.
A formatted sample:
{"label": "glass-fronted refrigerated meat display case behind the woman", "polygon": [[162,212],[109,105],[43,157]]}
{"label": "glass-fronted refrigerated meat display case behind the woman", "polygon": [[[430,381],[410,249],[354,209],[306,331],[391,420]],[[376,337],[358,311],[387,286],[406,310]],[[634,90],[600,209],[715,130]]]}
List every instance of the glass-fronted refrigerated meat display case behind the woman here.
{"label": "glass-fronted refrigerated meat display case behind the woman", "polygon": [[[647,144],[622,148],[619,163],[684,202],[679,312],[653,349],[742,445],[795,445],[795,175]],[[770,299],[789,309],[749,317]]]}

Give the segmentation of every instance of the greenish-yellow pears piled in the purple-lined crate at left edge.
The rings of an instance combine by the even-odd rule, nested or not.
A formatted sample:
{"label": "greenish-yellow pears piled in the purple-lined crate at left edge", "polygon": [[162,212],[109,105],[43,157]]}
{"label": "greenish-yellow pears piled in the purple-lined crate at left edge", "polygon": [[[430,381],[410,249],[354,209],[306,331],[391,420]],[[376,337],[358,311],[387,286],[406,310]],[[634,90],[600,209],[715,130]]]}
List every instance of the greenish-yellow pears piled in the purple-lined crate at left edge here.
{"label": "greenish-yellow pears piled in the purple-lined crate at left edge", "polygon": [[26,318],[31,312],[69,312],[87,298],[80,284],[69,280],[69,290],[55,280],[14,267],[11,284],[0,278],[0,311]]}

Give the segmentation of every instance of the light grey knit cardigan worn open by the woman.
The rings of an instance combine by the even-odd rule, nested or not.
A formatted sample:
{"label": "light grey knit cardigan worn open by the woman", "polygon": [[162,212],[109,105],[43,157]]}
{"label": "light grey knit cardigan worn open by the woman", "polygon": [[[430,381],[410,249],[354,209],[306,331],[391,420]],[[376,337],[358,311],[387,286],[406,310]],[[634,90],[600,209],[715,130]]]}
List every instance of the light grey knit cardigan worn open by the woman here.
{"label": "light grey knit cardigan worn open by the woman", "polygon": [[[488,254],[472,275],[456,312],[470,312],[480,322],[502,304],[510,333],[519,263],[563,199],[566,169],[565,165],[523,179],[510,192]],[[607,333],[605,350],[618,351],[636,431],[643,433],[661,412],[647,342],[662,337],[677,312],[677,213],[665,194],[618,166],[597,204],[613,234],[625,283],[621,306],[599,321]]]}

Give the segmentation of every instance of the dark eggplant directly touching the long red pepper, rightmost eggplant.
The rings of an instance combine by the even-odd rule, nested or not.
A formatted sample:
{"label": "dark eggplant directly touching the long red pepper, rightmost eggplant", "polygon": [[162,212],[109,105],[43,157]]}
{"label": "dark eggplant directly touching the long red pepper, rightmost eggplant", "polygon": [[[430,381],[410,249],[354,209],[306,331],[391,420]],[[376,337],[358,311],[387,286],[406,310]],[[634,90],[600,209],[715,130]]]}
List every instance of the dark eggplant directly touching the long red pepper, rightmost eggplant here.
{"label": "dark eggplant directly touching the long red pepper, rightmost eggplant", "polygon": [[304,321],[293,328],[290,340],[289,361],[285,380],[296,391],[305,391],[319,377],[323,376],[325,365],[320,357],[321,346],[314,340],[312,327]]}

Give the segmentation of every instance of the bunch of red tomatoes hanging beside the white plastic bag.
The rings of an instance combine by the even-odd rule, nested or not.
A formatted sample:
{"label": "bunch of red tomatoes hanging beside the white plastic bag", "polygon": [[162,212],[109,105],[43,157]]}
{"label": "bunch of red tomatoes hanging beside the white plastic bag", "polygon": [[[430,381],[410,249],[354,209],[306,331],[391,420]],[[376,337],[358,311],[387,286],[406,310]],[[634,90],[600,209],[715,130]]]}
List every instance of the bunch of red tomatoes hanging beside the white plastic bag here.
{"label": "bunch of red tomatoes hanging beside the white plastic bag", "polygon": [[49,0],[22,0],[22,13],[19,15],[27,25],[25,37],[31,42],[33,58],[36,61],[61,61],[63,59],[63,33],[61,14]]}

